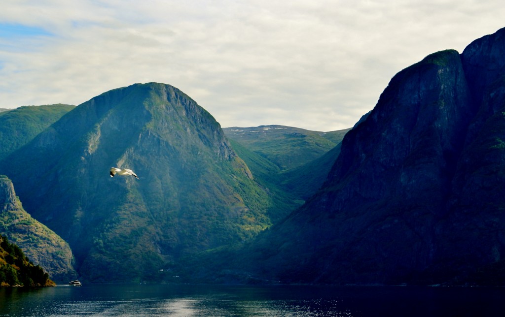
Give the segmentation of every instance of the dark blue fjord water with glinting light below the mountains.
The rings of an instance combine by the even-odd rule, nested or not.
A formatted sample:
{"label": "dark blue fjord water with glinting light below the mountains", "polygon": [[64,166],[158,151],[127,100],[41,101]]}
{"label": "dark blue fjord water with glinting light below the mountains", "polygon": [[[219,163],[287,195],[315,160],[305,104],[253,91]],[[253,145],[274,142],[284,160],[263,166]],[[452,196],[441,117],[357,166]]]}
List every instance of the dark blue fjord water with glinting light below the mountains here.
{"label": "dark blue fjord water with glinting light below the mountains", "polygon": [[84,285],[0,289],[1,316],[503,316],[505,288]]}

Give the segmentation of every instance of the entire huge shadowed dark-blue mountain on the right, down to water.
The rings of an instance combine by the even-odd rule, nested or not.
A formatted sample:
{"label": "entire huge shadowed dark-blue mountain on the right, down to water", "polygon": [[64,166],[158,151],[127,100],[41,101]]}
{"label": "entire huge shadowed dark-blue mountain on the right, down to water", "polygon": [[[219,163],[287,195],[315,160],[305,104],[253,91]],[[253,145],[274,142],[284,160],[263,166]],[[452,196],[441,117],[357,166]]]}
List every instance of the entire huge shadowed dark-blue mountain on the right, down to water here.
{"label": "entire huge shadowed dark-blue mountain on the right, down to water", "polygon": [[193,275],[504,285],[503,56],[505,29],[400,71],[306,204]]}

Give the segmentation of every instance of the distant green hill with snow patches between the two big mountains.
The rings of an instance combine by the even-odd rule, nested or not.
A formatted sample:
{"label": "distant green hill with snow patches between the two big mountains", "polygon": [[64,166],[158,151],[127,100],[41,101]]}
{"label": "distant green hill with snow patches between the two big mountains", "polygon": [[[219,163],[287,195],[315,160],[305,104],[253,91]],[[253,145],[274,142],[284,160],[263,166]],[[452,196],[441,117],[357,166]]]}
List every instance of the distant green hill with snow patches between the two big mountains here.
{"label": "distant green hill with snow patches between the two big mountains", "polygon": [[339,143],[325,138],[324,132],[284,125],[260,125],[250,128],[234,126],[223,131],[229,139],[264,156],[280,170],[309,163]]}

